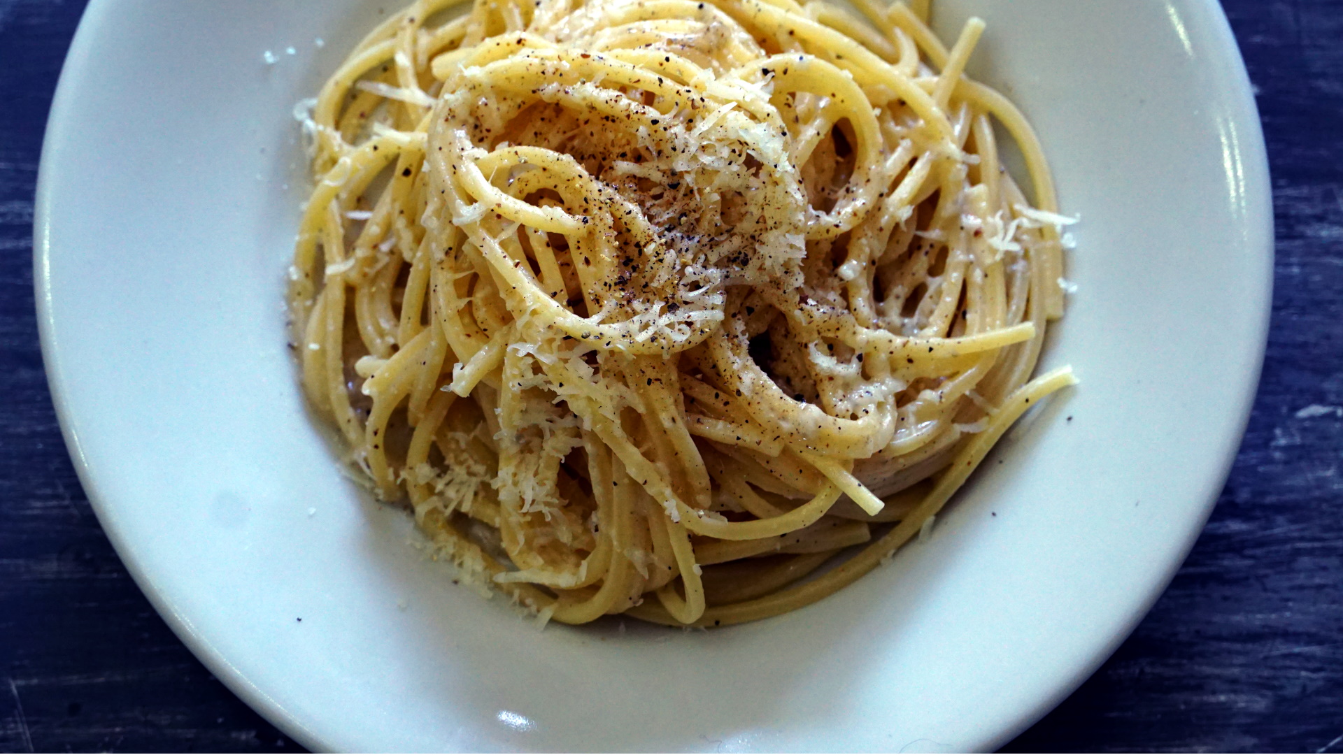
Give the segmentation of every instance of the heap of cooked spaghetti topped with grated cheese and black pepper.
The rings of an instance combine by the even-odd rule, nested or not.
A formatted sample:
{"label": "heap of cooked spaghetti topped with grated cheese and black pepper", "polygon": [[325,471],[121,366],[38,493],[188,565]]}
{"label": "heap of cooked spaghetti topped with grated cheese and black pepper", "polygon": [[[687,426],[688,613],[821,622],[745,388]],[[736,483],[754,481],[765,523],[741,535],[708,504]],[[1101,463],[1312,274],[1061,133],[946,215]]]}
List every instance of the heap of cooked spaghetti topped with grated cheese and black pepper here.
{"label": "heap of cooked spaghetti topped with grated cheese and black pepper", "polygon": [[289,306],[351,462],[482,583],[567,623],[804,606],[1072,383],[1029,380],[1068,220],[964,74],[979,19],[458,1],[309,103]]}

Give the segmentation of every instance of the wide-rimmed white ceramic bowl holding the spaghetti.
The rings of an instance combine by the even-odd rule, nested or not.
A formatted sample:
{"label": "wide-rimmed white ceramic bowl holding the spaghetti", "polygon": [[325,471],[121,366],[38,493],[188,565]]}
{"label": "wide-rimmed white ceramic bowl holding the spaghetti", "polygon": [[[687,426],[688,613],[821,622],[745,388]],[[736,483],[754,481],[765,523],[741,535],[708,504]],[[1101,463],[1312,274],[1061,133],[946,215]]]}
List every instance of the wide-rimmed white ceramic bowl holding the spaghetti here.
{"label": "wide-rimmed white ceramic bowl holding the spaghetti", "polygon": [[306,181],[290,113],[380,5],[94,0],[51,112],[36,285],[66,439],[128,568],[312,748],[1005,742],[1115,649],[1198,535],[1257,380],[1272,215],[1213,0],[940,0],[937,26],[970,12],[988,21],[976,75],[1021,103],[1082,216],[1044,363],[1081,386],[1005,439],[931,541],[815,606],[539,633],[341,477],[285,347]]}

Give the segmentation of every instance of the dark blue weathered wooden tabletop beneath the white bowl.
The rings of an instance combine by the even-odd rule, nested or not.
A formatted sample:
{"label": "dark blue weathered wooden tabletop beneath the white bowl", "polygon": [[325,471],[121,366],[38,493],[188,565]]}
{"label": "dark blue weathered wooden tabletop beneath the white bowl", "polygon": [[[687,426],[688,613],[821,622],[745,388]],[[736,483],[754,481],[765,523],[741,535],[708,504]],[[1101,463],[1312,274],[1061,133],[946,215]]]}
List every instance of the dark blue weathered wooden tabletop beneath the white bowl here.
{"label": "dark blue weathered wooden tabletop beneath the white bowl", "polygon": [[[1301,411],[1343,406],[1343,0],[1223,7],[1258,91],[1277,216],[1249,431],[1170,590],[1010,751],[1343,752],[1343,411]],[[51,408],[32,195],[82,8],[0,0],[0,751],[297,750],[149,607]]]}

